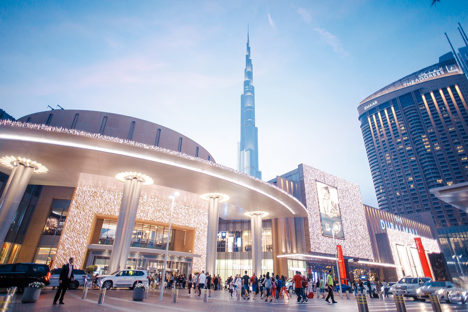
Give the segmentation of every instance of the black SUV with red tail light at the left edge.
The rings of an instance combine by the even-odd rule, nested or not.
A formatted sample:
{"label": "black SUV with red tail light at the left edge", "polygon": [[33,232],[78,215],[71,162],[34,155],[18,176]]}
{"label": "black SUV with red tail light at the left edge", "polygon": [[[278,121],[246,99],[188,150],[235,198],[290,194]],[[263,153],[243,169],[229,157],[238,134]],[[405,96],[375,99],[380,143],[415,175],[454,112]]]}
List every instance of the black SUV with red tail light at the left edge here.
{"label": "black SUV with red tail light at the left edge", "polygon": [[0,265],[0,288],[16,286],[22,292],[29,283],[41,282],[49,285],[51,270],[48,265],[38,263],[14,263]]}

